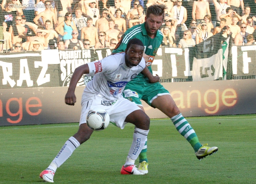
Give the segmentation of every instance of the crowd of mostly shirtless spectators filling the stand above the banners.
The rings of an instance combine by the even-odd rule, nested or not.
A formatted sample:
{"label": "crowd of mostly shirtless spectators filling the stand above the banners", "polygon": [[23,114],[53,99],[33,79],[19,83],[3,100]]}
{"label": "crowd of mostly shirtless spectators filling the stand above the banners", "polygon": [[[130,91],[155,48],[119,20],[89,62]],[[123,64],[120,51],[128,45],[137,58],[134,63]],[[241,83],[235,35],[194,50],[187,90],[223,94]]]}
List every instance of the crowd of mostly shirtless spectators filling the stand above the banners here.
{"label": "crowd of mostly shirtless spectators filling the stand above the banners", "polygon": [[[1,2],[2,1],[2,2]],[[114,49],[122,34],[165,4],[162,46],[192,47],[216,33],[254,44],[256,0],[0,0],[0,52]],[[223,41],[223,40],[222,40]]]}

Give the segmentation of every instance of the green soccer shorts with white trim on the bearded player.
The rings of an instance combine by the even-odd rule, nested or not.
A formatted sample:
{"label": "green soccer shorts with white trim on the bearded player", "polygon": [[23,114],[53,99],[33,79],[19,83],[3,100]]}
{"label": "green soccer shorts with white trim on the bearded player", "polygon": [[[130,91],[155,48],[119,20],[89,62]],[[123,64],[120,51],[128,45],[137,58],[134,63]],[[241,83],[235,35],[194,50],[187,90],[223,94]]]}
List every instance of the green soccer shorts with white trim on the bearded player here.
{"label": "green soccer shorts with white trim on the bearded player", "polygon": [[138,106],[142,106],[140,100],[144,100],[148,105],[158,96],[169,94],[168,90],[164,88],[159,82],[154,84],[142,81],[130,81],[124,88],[123,96],[128,100],[134,102]]}

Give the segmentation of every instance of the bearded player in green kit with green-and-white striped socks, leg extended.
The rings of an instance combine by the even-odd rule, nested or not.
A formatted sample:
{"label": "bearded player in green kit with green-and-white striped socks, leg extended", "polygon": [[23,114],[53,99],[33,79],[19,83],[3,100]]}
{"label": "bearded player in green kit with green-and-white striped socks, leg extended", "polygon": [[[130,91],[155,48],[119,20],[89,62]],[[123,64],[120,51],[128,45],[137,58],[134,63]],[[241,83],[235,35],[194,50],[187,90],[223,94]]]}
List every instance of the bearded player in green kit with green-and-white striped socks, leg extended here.
{"label": "bearded player in green kit with green-and-white striped socks, leg extended", "polygon": [[[216,153],[218,147],[208,147],[207,144],[202,145],[199,142],[194,129],[180,113],[168,90],[158,82],[159,76],[152,75],[151,65],[163,39],[163,34],[159,28],[164,21],[164,9],[167,9],[164,4],[149,6],[146,11],[145,22],[128,29],[122,35],[121,41],[112,51],[112,54],[124,52],[130,39],[138,38],[142,41],[144,44],[144,58],[146,58],[145,61],[148,60],[146,62],[146,66],[148,66],[146,73],[151,73],[150,77],[147,78],[142,73],[138,74],[132,81],[128,82],[123,96],[136,103],[143,111],[144,109],[140,100],[144,100],[148,105],[159,109],[170,117],[178,132],[193,147],[196,157],[201,160],[212,153]],[[147,142],[139,155],[140,165],[138,170],[143,173],[148,173],[146,151]]]}

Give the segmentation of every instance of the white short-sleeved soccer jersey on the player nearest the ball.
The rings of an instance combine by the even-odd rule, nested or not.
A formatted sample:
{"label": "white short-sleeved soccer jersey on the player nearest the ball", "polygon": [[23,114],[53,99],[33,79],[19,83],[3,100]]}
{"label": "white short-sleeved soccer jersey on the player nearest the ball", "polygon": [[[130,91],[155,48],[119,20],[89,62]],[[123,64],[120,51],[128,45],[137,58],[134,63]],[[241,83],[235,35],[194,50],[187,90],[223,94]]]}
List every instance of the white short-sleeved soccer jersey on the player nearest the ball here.
{"label": "white short-sleeved soccer jersey on the player nearest the ball", "polygon": [[107,101],[123,98],[122,92],[126,84],[146,67],[143,58],[136,67],[127,67],[124,55],[125,53],[119,53],[87,63],[90,69],[87,76],[94,77],[84,88],[84,94],[99,96]]}

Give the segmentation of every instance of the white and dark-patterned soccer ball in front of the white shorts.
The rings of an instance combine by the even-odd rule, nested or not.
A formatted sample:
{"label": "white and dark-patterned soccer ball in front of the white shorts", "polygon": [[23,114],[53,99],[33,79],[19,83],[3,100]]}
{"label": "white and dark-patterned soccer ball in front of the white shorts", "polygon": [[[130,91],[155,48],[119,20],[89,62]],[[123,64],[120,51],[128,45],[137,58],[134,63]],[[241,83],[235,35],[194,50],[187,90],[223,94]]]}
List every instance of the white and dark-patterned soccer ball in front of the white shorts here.
{"label": "white and dark-patterned soccer ball in front of the white shorts", "polygon": [[108,127],[110,117],[102,108],[93,108],[89,110],[86,116],[86,123],[94,131],[104,130]]}

